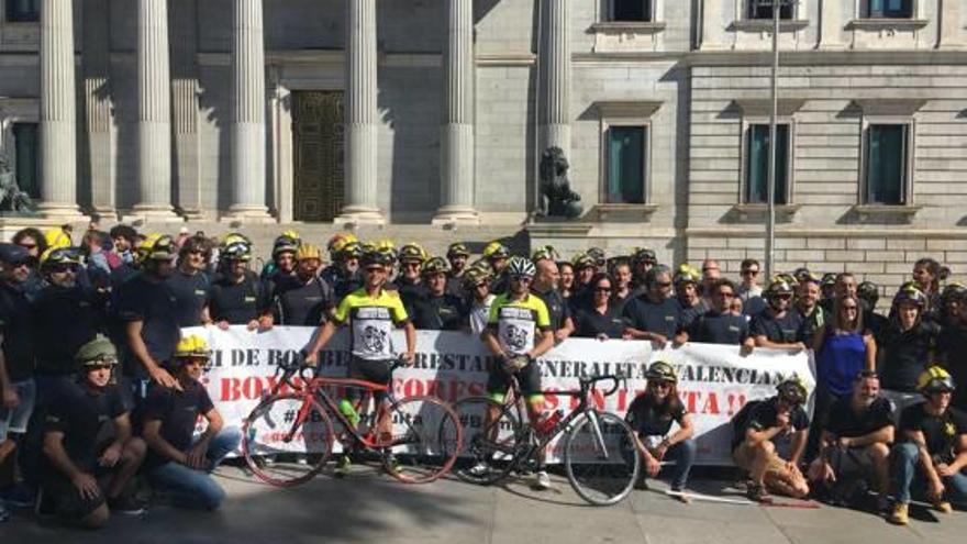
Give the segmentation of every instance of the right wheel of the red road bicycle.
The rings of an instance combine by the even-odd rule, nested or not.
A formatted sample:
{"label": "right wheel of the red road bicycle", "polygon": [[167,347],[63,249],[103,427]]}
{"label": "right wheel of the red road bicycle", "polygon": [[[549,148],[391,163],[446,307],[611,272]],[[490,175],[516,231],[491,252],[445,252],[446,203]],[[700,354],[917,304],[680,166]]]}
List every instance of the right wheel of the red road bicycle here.
{"label": "right wheel of the red road bicycle", "polygon": [[390,407],[393,432],[380,444],[386,470],[404,484],[427,484],[446,474],[463,434],[456,413],[435,397],[409,397]]}

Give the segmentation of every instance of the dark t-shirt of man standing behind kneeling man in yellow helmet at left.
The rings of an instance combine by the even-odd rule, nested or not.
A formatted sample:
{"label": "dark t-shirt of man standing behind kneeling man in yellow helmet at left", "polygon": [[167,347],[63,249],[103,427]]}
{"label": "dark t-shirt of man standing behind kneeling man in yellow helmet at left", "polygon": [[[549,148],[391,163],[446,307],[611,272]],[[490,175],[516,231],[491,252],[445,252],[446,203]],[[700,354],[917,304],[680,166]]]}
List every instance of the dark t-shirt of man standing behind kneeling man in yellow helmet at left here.
{"label": "dark t-shirt of man standing behind kneeling man in yellow helmet at left", "polygon": [[[178,299],[171,286],[137,274],[118,289],[116,303],[116,314],[122,322],[143,322],[141,338],[152,358],[162,364],[169,362],[181,337],[175,318],[178,314]],[[124,371],[138,379],[148,377],[147,370],[135,357],[125,360]]]}

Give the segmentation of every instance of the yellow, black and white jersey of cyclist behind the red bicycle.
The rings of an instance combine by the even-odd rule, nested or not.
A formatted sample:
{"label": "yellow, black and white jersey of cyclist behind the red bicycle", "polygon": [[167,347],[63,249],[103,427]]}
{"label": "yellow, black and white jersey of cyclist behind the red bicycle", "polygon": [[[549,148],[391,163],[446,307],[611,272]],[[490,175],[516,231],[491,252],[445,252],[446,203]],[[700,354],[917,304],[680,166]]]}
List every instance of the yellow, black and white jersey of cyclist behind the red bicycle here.
{"label": "yellow, black and white jersey of cyclist behind the red bicycle", "polygon": [[390,334],[394,326],[410,321],[403,301],[396,291],[381,290],[370,297],[365,289],[346,295],[336,307],[333,320],[349,323],[353,355],[367,360],[393,357]]}

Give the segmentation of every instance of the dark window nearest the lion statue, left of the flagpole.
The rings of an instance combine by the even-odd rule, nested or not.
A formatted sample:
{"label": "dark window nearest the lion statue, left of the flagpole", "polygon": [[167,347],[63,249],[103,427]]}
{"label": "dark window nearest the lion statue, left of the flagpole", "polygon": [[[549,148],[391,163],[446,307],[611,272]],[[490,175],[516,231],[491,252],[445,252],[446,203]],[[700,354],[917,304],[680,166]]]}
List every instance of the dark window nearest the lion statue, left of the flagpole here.
{"label": "dark window nearest the lion statue, left of the flagpole", "polygon": [[608,130],[605,203],[645,203],[646,142],[645,126],[611,126]]}

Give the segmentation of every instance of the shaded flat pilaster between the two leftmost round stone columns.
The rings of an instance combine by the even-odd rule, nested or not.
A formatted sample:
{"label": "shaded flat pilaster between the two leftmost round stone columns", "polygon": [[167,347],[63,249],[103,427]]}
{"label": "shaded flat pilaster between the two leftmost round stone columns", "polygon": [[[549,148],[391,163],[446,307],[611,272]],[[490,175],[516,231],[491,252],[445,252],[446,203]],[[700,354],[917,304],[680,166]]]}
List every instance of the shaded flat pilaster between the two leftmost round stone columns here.
{"label": "shaded flat pilaster between the two leftmost round stone columns", "polygon": [[108,0],[84,2],[84,99],[91,208],[104,219],[116,219],[108,8]]}

